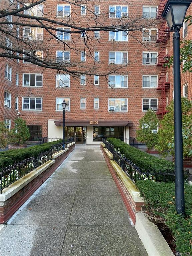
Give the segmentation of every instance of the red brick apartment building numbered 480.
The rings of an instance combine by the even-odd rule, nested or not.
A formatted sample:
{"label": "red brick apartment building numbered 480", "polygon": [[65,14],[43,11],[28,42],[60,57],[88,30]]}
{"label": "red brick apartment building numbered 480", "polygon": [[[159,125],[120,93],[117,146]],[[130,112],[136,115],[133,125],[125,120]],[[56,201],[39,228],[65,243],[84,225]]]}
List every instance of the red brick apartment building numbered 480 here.
{"label": "red brick apartment building numbered 480", "polygon": [[[97,74],[112,67],[116,69],[128,63],[119,72],[108,76],[85,75],[75,78],[69,74],[59,74],[57,70],[43,69],[22,60],[1,58],[1,120],[13,128],[18,116],[26,120],[29,126],[30,140],[40,137],[61,138],[63,109],[65,99],[68,110],[65,111],[66,136],[75,137],[77,143],[99,144],[102,137],[117,137],[129,143],[135,137],[139,119],[148,109],[156,111],[159,118],[165,114],[165,107],[172,100],[172,67],[163,67],[163,63],[173,54],[172,35],[161,18],[166,1],[89,1],[92,12],[108,13],[108,19],[129,19],[140,16],[156,20],[156,26],[145,31],[123,32],[100,31],[92,38],[92,53],[84,52],[84,35],[76,37],[76,48],[69,51],[61,42],[54,39],[47,44],[57,60],[64,58],[70,62],[78,61],[82,67],[91,67]],[[90,4],[90,3],[89,3]],[[159,6],[159,7],[158,7]],[[46,0],[40,9],[49,10],[62,20],[65,15],[76,15],[81,27],[89,23],[90,15],[86,5],[77,6],[71,13],[69,3]],[[29,13],[29,12],[28,12]],[[192,6],[188,14],[192,13]],[[37,14],[36,15],[42,15]],[[11,19],[11,17],[9,17]],[[92,21],[94,24],[94,21]],[[29,27],[22,27],[20,35],[28,37]],[[55,32],[56,33],[56,32]],[[34,38],[35,35],[35,38]],[[33,31],[28,40],[42,40],[47,36],[44,30]],[[60,33],[58,37],[70,43],[72,36]],[[184,24],[181,39],[192,38],[192,26]],[[182,64],[181,64],[182,70]],[[183,96],[192,99],[192,73],[182,74]],[[4,96],[4,101],[3,101]],[[3,104],[4,102],[4,104]]]}

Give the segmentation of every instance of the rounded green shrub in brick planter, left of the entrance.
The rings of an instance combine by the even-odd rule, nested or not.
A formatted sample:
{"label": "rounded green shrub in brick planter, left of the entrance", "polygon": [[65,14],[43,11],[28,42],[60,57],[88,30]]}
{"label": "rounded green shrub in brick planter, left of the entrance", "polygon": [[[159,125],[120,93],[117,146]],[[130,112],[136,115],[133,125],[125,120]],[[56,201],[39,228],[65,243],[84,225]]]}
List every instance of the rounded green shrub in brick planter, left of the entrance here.
{"label": "rounded green shrub in brick planter, left of the entrance", "polygon": [[24,144],[24,142],[30,137],[29,128],[27,127],[25,120],[22,118],[17,118],[14,122],[15,127],[9,132],[8,141],[9,143]]}

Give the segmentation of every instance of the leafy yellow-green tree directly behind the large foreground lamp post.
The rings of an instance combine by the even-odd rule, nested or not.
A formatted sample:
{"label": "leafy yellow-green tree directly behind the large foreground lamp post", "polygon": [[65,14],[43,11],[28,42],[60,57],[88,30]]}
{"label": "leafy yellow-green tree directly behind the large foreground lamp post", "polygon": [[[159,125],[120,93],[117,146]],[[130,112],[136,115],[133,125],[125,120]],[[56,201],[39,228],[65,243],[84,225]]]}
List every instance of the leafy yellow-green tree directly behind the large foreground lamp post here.
{"label": "leafy yellow-green tree directly behind the large foreground lamp post", "polygon": [[[174,155],[174,102],[160,122],[158,131],[158,151],[163,156]],[[192,102],[182,98],[183,156],[192,155]]]}

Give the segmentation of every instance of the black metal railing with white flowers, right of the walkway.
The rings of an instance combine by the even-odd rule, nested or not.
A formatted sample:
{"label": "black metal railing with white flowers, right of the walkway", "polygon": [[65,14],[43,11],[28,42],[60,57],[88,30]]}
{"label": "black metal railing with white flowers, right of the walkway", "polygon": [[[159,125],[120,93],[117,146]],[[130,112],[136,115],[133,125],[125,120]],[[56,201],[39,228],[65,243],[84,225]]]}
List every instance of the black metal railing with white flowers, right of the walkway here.
{"label": "black metal railing with white flowers, right of the walkway", "polygon": [[[110,144],[105,139],[102,139],[102,142],[105,144],[106,148],[113,154],[113,160],[121,167],[121,170],[124,171],[127,176],[135,183],[138,180],[148,179],[156,182],[174,182],[175,173],[174,171],[170,172],[169,170],[162,171],[159,173],[154,173],[151,171],[143,172],[138,166],[136,166],[132,161],[127,159],[124,155],[118,152],[118,149],[115,149],[112,144]],[[184,170],[184,179],[189,184],[190,181],[189,170]]]}

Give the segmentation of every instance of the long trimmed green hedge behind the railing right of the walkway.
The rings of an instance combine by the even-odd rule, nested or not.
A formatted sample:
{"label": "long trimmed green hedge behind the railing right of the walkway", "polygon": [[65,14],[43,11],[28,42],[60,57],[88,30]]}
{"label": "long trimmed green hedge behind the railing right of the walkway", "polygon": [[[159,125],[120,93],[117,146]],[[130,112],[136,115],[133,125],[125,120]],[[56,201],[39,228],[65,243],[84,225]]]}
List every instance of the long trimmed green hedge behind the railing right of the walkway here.
{"label": "long trimmed green hedge behind the railing right of the walkway", "polygon": [[116,149],[119,148],[120,152],[125,154],[125,157],[137,165],[142,172],[174,172],[174,163],[170,161],[158,158],[156,156],[151,156],[148,153],[134,148],[119,139],[108,138],[107,141],[113,144]]}

